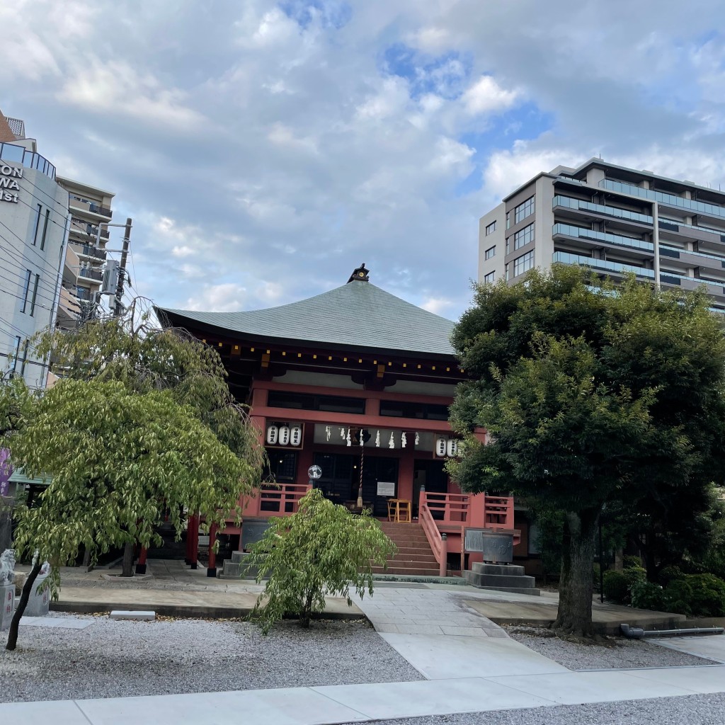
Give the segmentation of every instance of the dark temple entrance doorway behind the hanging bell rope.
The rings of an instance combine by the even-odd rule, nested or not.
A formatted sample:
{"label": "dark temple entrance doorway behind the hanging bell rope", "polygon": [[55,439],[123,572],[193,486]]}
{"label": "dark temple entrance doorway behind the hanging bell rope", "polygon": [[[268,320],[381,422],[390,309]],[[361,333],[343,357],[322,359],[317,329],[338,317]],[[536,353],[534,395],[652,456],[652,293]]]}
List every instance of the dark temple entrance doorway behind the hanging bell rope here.
{"label": "dark temple entrance doorway behind the hanging bell rope", "polygon": [[[360,456],[344,453],[315,453],[315,464],[322,469],[322,476],[315,481],[331,501],[354,505],[360,488]],[[373,511],[373,516],[387,516],[387,496],[378,496],[378,482],[393,484],[397,494],[397,458],[365,455],[363,463],[363,505]]]}

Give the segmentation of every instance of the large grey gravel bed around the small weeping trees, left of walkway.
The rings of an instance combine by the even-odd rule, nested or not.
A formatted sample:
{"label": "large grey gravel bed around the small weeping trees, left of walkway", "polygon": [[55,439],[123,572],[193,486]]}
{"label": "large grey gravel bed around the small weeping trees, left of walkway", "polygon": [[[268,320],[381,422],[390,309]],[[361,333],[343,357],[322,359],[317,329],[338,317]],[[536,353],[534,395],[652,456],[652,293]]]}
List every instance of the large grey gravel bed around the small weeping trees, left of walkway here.
{"label": "large grey gravel bed around the small weeping trees, left of walkway", "polygon": [[21,627],[12,653],[0,638],[0,702],[423,679],[360,621],[284,622],[264,637],[241,621],[75,617],[94,624]]}

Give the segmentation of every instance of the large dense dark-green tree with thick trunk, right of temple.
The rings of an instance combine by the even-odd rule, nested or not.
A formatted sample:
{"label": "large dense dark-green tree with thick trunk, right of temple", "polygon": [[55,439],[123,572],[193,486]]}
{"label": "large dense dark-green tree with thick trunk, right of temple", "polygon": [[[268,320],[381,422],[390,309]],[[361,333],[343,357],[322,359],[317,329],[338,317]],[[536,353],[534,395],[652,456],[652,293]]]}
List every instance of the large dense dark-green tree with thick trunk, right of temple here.
{"label": "large dense dark-green tree with thick trunk, right of temple", "polygon": [[[513,492],[563,512],[555,627],[592,634],[597,523],[608,509],[669,509],[721,481],[725,341],[704,292],[628,278],[616,291],[555,265],[476,288],[453,344],[472,380],[452,423],[451,473],[469,491]],[[470,431],[485,426],[491,443]]]}

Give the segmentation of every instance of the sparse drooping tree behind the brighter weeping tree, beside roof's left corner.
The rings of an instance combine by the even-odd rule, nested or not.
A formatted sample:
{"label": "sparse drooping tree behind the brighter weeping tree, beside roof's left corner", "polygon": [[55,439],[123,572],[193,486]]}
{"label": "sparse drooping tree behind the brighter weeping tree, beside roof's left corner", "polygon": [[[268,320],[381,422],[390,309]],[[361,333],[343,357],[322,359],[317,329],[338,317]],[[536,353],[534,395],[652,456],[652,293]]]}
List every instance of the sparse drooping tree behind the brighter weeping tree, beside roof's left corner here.
{"label": "sparse drooping tree behind the brighter weeping tree, beside roof's left corner", "polygon": [[[178,328],[162,327],[137,298],[121,317],[88,320],[67,331],[47,331],[36,351],[50,357],[65,378],[120,381],[129,392],[167,390],[188,405],[220,442],[261,471],[264,448],[249,423],[247,406],[234,399],[218,353]],[[146,305],[146,308],[148,305]],[[133,574],[133,542],[125,547],[123,576]]]}

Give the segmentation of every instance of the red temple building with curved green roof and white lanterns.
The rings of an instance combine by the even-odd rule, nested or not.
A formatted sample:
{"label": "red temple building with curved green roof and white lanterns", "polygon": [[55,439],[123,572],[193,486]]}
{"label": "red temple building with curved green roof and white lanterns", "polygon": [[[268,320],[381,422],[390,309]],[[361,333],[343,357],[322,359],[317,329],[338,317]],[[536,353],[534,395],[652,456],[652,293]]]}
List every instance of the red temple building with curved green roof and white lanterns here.
{"label": "red temple building with curved green roof and white lanterns", "polygon": [[[375,286],[365,265],[342,286],[290,305],[157,312],[165,326],[218,350],[264,440],[266,480],[276,485],[244,501],[241,529],[228,522],[232,550],[244,550],[270,516],[294,513],[312,485],[386,522],[399,547],[390,573],[460,571],[465,526],[513,529],[513,500],[462,494],[444,468],[457,451],[448,407],[465,379],[450,343],[454,323]],[[311,480],[313,466],[319,478]],[[192,541],[192,565],[195,549]]]}

